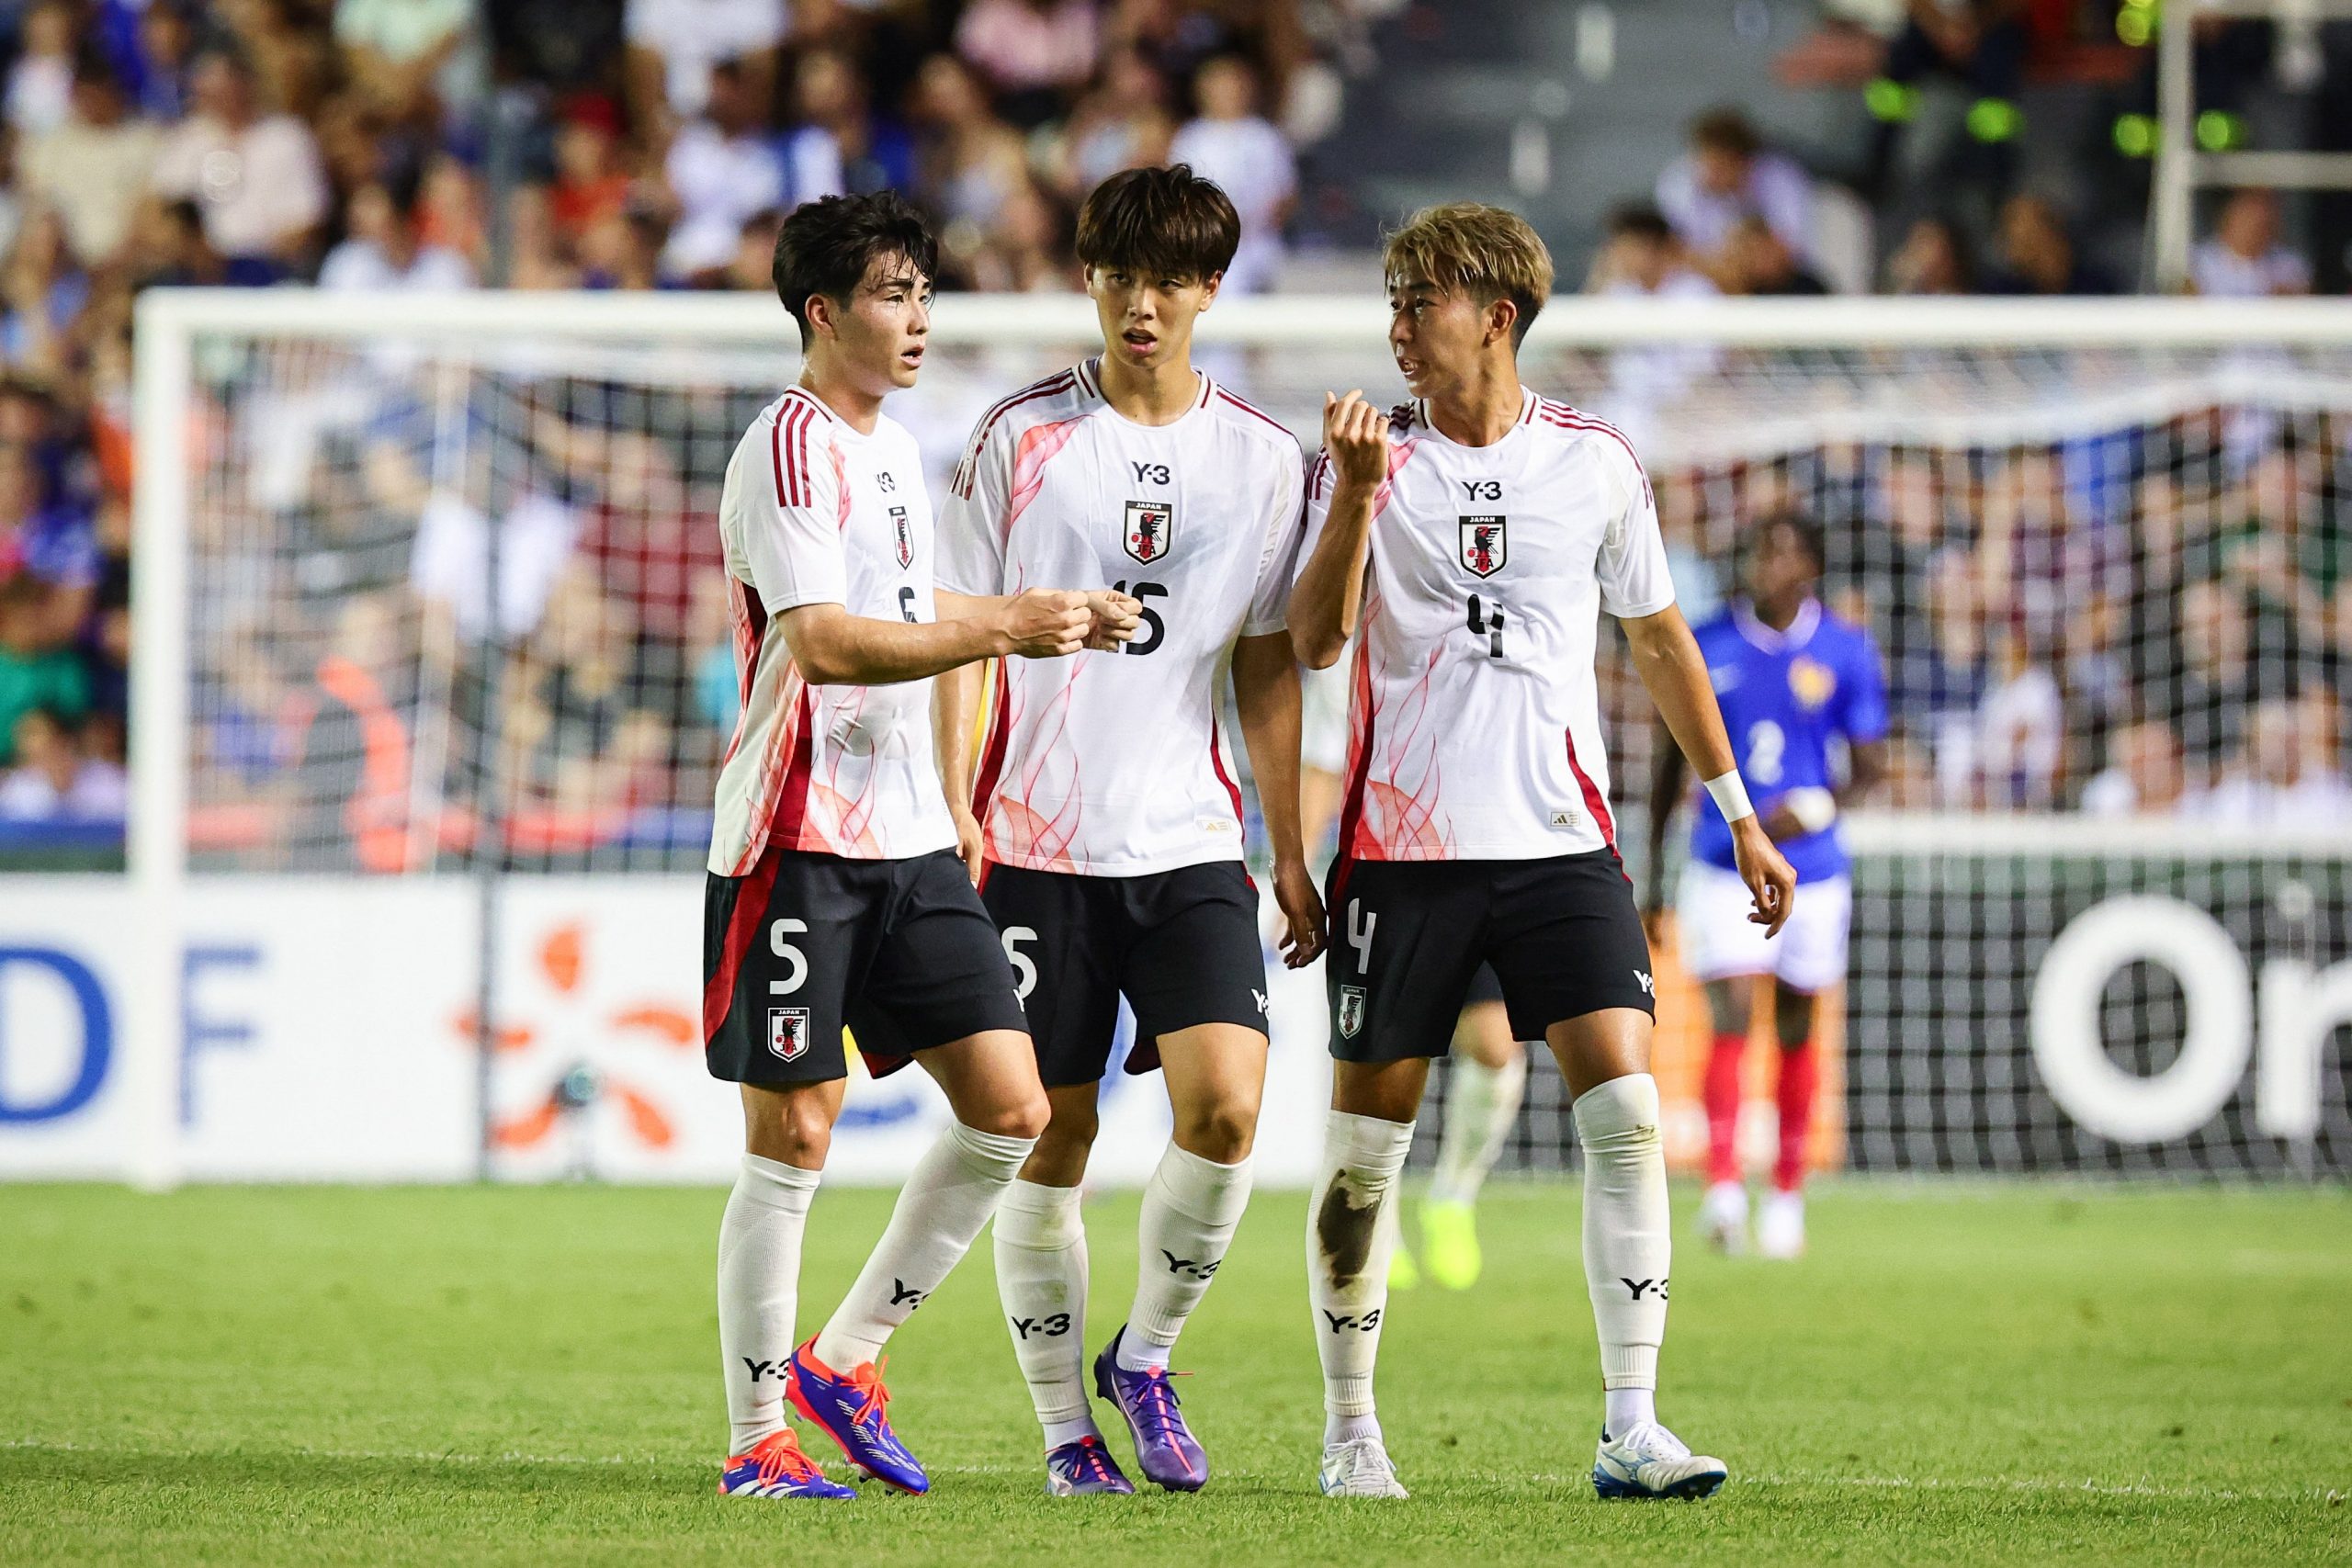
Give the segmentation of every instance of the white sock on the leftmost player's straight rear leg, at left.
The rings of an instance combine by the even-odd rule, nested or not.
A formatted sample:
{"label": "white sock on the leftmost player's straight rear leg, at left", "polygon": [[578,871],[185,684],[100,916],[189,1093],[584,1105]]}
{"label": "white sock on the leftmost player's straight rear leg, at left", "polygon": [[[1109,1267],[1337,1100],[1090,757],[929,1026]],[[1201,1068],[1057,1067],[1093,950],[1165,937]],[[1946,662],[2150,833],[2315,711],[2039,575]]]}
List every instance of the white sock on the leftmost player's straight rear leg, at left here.
{"label": "white sock on the leftmost player's straight rear leg, at left", "polygon": [[720,1215],[720,1361],[727,1373],[729,1455],[783,1427],[783,1378],[800,1302],[800,1232],[816,1171],[743,1157]]}

